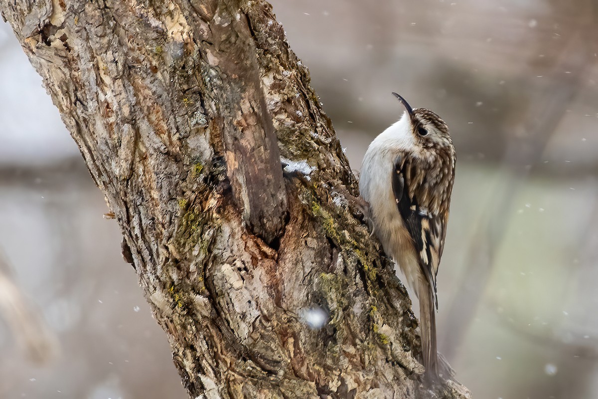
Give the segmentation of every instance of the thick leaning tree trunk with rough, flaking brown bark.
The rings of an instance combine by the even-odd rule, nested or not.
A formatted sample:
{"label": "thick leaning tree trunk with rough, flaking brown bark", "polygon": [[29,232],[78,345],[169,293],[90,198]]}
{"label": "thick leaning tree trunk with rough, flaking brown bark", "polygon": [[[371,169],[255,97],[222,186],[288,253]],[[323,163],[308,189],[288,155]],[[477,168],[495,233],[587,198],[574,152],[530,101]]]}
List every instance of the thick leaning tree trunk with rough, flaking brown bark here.
{"label": "thick leaning tree trunk with rough, flaking brown bark", "polygon": [[423,386],[410,300],[267,2],[0,10],[120,224],[191,398],[469,397]]}

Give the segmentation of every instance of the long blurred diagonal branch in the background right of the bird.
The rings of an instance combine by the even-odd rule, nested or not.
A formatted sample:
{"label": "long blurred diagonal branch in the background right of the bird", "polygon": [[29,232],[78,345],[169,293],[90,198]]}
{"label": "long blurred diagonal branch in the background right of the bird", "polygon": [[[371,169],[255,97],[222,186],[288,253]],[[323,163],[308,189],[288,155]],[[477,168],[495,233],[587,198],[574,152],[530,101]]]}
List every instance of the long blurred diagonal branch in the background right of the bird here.
{"label": "long blurred diagonal branch in the background right of the bird", "polygon": [[[593,56],[588,51],[588,36],[594,35],[593,25],[579,26],[576,34],[563,47],[551,73],[543,77],[538,87],[533,88],[534,92],[544,93],[537,95],[542,100],[532,103],[527,109],[526,118],[509,132],[502,168],[512,178],[496,185],[493,196],[484,206],[486,214],[480,218],[472,234],[461,284],[456,289],[457,294],[446,316],[447,330],[453,331],[453,334],[444,336],[442,346],[449,359],[456,355],[456,348],[464,339],[486,289],[495,265],[496,248],[507,231],[510,220],[507,215],[512,210],[515,194],[525,184],[530,171],[540,163],[569,103],[584,86],[584,77],[590,65],[588,61]],[[563,77],[563,71],[571,73]]]}

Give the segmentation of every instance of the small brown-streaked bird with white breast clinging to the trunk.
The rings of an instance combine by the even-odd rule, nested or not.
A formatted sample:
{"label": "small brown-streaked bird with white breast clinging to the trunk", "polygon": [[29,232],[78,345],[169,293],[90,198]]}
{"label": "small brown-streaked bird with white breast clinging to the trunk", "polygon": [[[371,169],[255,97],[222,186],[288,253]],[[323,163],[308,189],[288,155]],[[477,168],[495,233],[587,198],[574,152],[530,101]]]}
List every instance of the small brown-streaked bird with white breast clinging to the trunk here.
{"label": "small brown-streaked bird with white breast clinging to the trunk", "polygon": [[404,112],[368,147],[359,194],[369,204],[373,234],[419,299],[425,376],[437,380],[448,366],[443,358],[439,366],[437,353],[436,276],[449,221],[456,152],[447,124],[435,112],[413,109],[392,94]]}

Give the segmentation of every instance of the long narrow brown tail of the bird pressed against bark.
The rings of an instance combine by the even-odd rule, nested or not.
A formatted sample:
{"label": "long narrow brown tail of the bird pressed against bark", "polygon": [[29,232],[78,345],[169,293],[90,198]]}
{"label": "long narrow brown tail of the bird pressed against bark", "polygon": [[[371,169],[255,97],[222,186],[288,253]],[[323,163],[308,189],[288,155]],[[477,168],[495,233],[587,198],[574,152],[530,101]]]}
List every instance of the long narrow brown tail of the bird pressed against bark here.
{"label": "long narrow brown tail of the bird pressed against bark", "polygon": [[434,293],[425,279],[418,284],[420,334],[422,337],[423,367],[426,377],[438,379],[438,352],[436,349],[436,309]]}

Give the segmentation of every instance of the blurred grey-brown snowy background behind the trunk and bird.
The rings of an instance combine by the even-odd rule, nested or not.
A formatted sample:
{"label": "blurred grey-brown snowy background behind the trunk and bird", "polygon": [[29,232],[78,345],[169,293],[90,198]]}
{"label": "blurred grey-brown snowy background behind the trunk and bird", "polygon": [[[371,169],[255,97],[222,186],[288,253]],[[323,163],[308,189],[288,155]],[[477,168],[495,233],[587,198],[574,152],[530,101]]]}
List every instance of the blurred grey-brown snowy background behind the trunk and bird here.
{"label": "blurred grey-brown snowy background behind the trunk and bird", "polygon": [[[402,111],[392,91],[450,127],[438,336],[457,379],[475,398],[598,397],[598,3],[272,3],[354,169]],[[186,397],[105,212],[0,22],[0,398]],[[39,328],[15,336],[21,319]]]}

